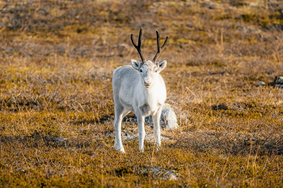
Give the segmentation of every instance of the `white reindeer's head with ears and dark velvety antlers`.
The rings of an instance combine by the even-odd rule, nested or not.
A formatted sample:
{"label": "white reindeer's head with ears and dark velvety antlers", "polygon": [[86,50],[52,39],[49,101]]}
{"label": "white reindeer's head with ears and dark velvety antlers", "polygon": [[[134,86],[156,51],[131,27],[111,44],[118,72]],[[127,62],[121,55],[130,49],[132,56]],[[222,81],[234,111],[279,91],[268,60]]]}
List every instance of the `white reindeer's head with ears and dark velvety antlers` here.
{"label": "white reindeer's head with ears and dark velvety antlers", "polygon": [[141,57],[142,61],[137,61],[135,59],[131,60],[132,66],[137,69],[140,72],[140,76],[141,76],[141,82],[144,85],[144,87],[146,88],[150,88],[156,78],[157,75],[159,74],[159,72],[161,70],[163,70],[166,67],[166,60],[162,60],[159,62],[156,62],[157,58],[159,57],[161,51],[165,48],[169,37],[167,36],[163,45],[160,47],[160,36],[159,36],[159,32],[156,31],[156,35],[157,35],[157,54],[154,56],[153,60],[146,60],[142,54],[142,50],[141,50],[141,45],[142,45],[142,28],[139,31],[139,42],[138,45],[134,40],[134,34],[131,34],[131,40],[133,45],[135,46],[135,48],[137,48],[137,51],[139,52],[139,56]]}

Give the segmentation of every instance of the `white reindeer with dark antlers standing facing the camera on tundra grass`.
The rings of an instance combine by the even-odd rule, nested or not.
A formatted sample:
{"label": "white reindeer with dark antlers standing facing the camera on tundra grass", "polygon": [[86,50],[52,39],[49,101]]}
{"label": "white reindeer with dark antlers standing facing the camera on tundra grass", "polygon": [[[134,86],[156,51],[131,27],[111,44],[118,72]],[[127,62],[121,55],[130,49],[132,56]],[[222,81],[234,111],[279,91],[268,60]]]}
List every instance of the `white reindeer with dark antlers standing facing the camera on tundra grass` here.
{"label": "white reindeer with dark antlers standing facing the camera on tundra grass", "polygon": [[166,99],[166,88],[163,78],[160,76],[161,70],[166,67],[167,61],[156,62],[160,52],[165,48],[169,37],[167,36],[164,44],[160,47],[160,36],[157,34],[157,54],[152,61],[146,60],[141,51],[142,31],[139,31],[138,45],[134,40],[133,33],[131,40],[142,61],[132,59],[130,65],[118,67],[113,72],[112,85],[115,105],[115,144],[114,148],[125,152],[121,139],[121,123],[125,115],[135,112],[139,131],[139,150],[144,151],[144,118],[152,115],[154,135],[157,147],[161,146],[160,125],[161,109]]}

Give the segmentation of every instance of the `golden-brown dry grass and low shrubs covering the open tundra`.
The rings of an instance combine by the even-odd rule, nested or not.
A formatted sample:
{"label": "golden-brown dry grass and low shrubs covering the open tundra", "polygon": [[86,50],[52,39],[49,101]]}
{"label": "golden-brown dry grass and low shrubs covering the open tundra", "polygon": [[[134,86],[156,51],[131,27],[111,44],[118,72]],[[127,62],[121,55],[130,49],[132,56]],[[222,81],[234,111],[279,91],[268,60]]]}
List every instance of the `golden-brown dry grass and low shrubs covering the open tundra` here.
{"label": "golden-brown dry grass and low shrubs covering the open tundra", "polygon": [[[280,0],[1,1],[3,187],[282,187]],[[113,149],[113,69],[130,34],[160,59],[180,129],[163,149]],[[162,42],[162,41],[161,41]],[[266,86],[258,87],[258,81]],[[122,134],[137,133],[130,114]],[[151,127],[146,127],[152,133]],[[153,152],[154,150],[154,152]]]}

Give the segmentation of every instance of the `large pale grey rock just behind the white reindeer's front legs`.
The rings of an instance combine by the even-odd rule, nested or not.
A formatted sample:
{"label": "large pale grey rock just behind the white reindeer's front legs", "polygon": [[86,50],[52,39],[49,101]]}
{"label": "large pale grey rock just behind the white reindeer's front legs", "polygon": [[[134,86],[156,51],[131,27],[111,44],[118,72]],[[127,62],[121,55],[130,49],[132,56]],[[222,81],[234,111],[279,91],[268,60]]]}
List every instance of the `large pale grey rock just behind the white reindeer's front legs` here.
{"label": "large pale grey rock just behind the white reindeer's front legs", "polygon": [[[152,116],[146,117],[145,122],[153,126]],[[162,107],[160,126],[167,130],[178,128],[176,114],[168,103],[165,103]]]}

